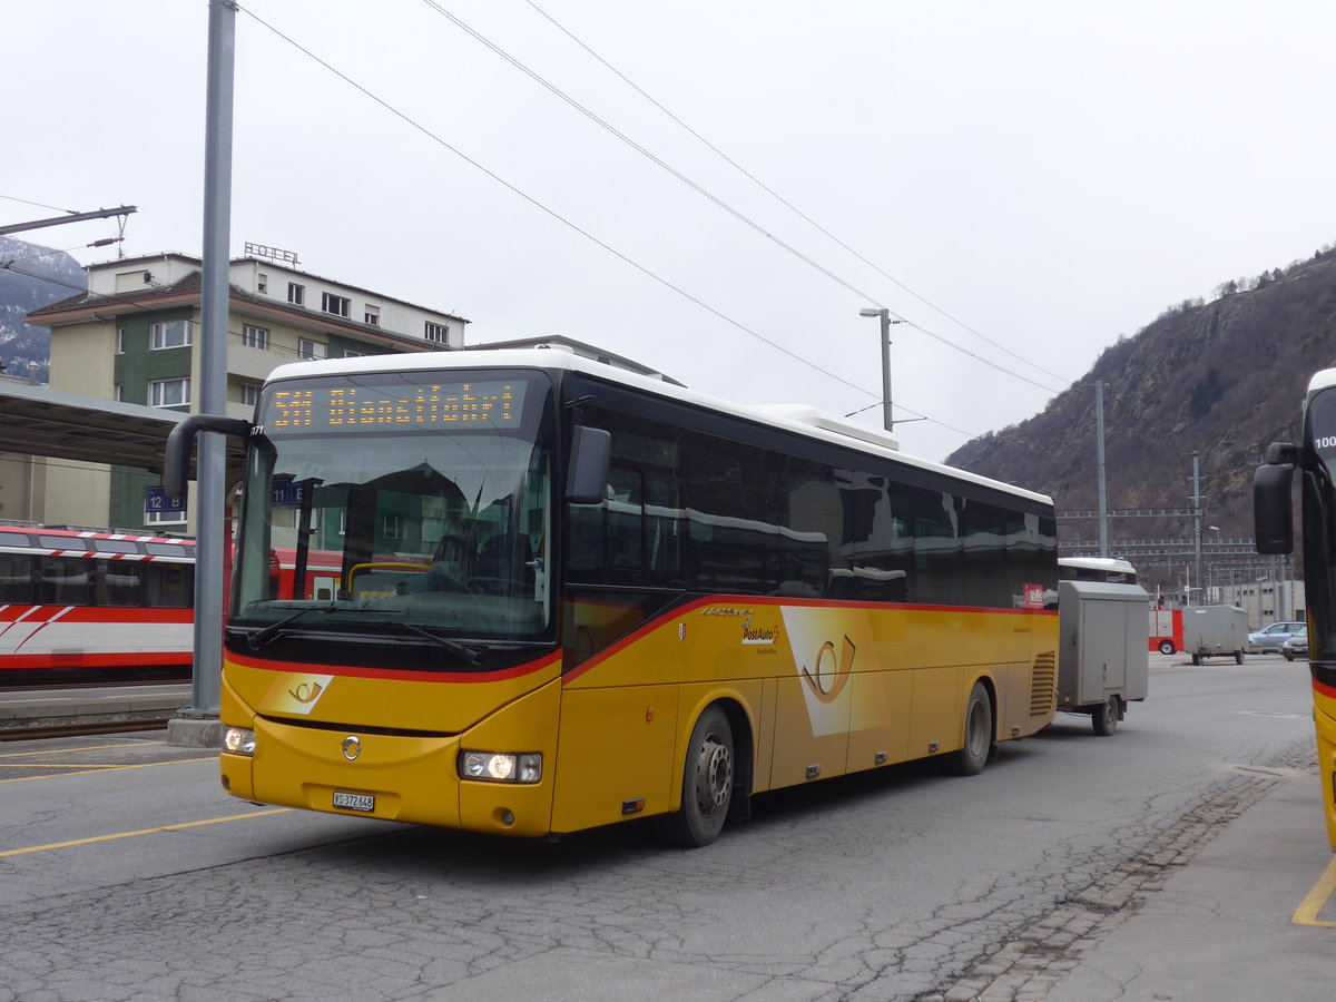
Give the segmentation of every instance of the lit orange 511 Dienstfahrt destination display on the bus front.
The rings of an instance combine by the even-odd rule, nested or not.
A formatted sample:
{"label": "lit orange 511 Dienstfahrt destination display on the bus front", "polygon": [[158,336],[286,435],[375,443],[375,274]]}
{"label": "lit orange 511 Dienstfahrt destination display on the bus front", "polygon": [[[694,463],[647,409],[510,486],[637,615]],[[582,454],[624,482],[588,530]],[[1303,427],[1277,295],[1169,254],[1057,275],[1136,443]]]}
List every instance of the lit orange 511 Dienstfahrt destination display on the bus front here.
{"label": "lit orange 511 Dienstfahrt destination display on the bus front", "polygon": [[386,425],[518,425],[524,390],[522,381],[279,389],[267,407],[265,426],[283,432],[353,432]]}

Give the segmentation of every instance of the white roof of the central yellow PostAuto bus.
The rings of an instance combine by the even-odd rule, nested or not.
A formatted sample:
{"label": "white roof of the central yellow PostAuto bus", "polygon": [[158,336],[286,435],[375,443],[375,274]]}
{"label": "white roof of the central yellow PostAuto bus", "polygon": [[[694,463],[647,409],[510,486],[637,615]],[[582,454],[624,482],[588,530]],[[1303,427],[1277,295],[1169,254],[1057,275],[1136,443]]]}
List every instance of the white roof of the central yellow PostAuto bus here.
{"label": "white roof of the central yellow PostAuto bus", "polygon": [[807,438],[831,442],[844,448],[882,456],[907,466],[945,473],[958,480],[991,488],[1006,494],[1051,505],[1053,498],[1014,484],[1003,484],[977,473],[946,466],[931,460],[907,456],[899,450],[894,436],[868,425],[855,425],[835,414],[803,405],[747,405],[680,386],[676,382],[655,379],[617,369],[593,358],[576,354],[561,345],[528,349],[464,349],[430,351],[425,354],[359,355],[355,358],[329,358],[311,362],[289,362],[270,373],[267,382],[319,375],[358,375],[397,371],[438,371],[442,369],[562,369],[596,375],[609,382],[643,390],[668,399],[681,401],[705,410],[780,428]]}

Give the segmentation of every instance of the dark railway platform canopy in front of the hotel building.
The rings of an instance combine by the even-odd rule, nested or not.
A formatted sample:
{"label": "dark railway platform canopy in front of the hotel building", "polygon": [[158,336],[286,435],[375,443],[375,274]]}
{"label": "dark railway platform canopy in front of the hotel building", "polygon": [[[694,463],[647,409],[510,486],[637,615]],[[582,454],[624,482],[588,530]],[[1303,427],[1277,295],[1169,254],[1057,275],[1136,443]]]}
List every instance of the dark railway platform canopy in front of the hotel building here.
{"label": "dark railway platform canopy in front of the hotel building", "polygon": [[[0,450],[20,456],[104,462],[162,473],[167,436],[184,417],[162,407],[0,381]],[[230,474],[239,476],[242,457],[242,444],[228,440]],[[195,477],[194,466],[190,477]]]}

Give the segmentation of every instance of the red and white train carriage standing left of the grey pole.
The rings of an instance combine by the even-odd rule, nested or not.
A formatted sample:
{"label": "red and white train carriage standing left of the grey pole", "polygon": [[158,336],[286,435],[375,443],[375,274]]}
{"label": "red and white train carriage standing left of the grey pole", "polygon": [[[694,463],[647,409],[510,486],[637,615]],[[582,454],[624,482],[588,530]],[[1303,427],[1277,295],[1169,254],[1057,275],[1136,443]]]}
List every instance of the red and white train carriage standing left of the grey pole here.
{"label": "red and white train carriage standing left of the grey pole", "polygon": [[0,525],[0,684],[188,675],[194,581],[190,538]]}

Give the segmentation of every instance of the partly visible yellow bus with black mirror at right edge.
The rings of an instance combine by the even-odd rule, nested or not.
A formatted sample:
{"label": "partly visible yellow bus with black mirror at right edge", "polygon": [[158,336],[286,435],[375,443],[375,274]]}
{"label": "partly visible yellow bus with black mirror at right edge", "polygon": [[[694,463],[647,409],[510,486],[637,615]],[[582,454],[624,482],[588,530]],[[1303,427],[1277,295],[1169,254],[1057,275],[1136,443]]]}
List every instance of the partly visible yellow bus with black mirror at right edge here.
{"label": "partly visible yellow bus with black mirror at right edge", "polygon": [[1308,382],[1300,428],[1297,445],[1273,442],[1267,449],[1267,465],[1253,477],[1253,521],[1259,553],[1293,550],[1297,469],[1317,770],[1327,838],[1336,850],[1336,369],[1324,369]]}

